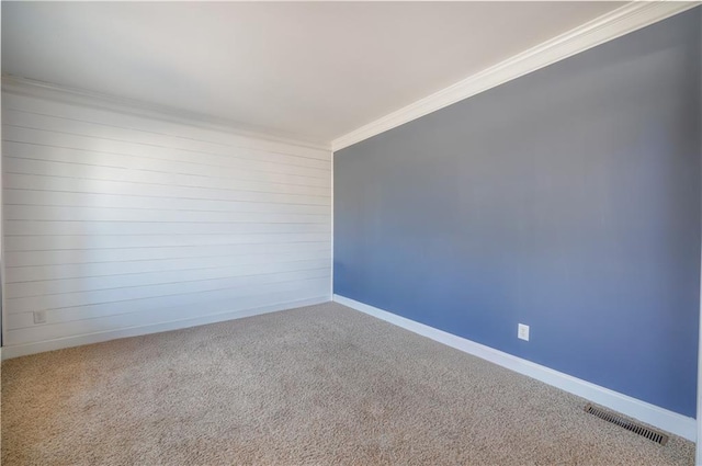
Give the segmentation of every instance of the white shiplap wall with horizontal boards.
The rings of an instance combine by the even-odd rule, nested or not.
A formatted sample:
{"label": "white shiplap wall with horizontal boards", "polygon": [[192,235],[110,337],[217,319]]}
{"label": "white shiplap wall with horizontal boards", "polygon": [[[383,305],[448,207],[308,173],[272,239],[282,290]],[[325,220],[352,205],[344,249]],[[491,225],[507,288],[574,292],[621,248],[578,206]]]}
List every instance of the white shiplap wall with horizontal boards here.
{"label": "white shiplap wall with horizontal boards", "polygon": [[5,357],[330,298],[329,151],[3,92],[2,170]]}

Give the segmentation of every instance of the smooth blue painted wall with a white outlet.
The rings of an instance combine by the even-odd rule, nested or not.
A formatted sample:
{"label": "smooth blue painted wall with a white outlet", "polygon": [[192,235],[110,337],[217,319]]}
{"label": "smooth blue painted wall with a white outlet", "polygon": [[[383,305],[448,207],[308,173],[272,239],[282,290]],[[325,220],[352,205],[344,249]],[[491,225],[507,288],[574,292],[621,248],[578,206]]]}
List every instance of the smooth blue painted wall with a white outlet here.
{"label": "smooth blue painted wall with a white outlet", "polygon": [[701,12],[336,152],[335,293],[694,417]]}

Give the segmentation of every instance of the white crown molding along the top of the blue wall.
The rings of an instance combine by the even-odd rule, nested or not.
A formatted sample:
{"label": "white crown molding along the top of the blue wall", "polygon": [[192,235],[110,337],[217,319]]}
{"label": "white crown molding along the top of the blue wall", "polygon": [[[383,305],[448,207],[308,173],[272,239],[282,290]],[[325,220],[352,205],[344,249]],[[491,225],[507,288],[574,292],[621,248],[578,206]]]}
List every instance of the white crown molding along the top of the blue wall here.
{"label": "white crown molding along the top of the blue wall", "polygon": [[337,151],[556,61],[690,10],[699,1],[633,1],[331,141]]}

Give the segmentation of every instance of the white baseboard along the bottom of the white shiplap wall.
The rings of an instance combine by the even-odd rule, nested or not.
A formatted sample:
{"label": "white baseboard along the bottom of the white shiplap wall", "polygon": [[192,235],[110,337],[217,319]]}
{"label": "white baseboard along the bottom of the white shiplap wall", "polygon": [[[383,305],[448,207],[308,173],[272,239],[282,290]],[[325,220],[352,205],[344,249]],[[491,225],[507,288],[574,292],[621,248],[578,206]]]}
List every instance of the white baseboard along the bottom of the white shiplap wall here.
{"label": "white baseboard along the bottom of the white shiplap wall", "polygon": [[261,314],[275,312],[279,310],[292,309],[295,307],[312,306],[315,304],[328,303],[329,296],[320,296],[309,299],[296,300],[292,303],[275,304],[271,306],[257,307],[253,309],[236,310],[231,312],[211,314],[191,319],[172,320],[168,322],[151,323],[147,326],[129,327],[125,329],[95,332],[76,337],[60,338],[56,340],[41,341],[36,343],[18,344],[2,346],[0,355],[2,360],[26,356],[29,354],[43,353],[45,351],[61,350],[64,348],[80,346],[83,344],[101,343],[120,338],[138,337],[148,333],[158,333],[170,330],[179,330],[189,327],[203,326],[206,323],[223,322],[225,320],[241,319],[244,317],[258,316]]}

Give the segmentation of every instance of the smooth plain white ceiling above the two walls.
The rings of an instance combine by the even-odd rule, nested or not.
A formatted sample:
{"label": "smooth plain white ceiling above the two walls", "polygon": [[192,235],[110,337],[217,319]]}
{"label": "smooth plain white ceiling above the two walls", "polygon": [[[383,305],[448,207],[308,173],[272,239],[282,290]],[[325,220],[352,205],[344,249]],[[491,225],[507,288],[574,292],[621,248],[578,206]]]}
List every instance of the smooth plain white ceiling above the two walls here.
{"label": "smooth plain white ceiling above the two walls", "polygon": [[2,2],[2,72],[332,139],[616,2]]}

